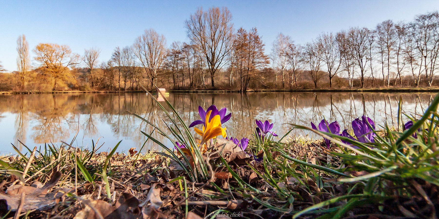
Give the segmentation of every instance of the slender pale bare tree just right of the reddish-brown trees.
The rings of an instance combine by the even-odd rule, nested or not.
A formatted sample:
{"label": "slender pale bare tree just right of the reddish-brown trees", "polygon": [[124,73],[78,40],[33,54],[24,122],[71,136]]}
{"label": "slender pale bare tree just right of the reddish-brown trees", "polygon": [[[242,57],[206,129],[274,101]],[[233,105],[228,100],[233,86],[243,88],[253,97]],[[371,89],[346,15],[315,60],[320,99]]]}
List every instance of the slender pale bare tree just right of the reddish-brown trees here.
{"label": "slender pale bare tree just right of the reddish-brown trees", "polygon": [[273,60],[273,64],[276,66],[276,88],[277,88],[277,73],[280,71],[282,75],[282,88],[284,88],[284,76],[287,67],[287,50],[288,46],[292,44],[290,36],[283,35],[279,33],[277,38],[273,42],[273,47],[271,48],[270,58]]}

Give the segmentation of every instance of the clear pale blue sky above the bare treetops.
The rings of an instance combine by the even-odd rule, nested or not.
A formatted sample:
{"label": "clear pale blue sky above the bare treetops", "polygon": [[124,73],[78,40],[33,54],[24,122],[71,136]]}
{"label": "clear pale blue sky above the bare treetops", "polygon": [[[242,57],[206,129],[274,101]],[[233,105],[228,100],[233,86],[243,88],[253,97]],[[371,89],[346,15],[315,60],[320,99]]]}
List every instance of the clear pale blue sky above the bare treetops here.
{"label": "clear pale blue sky above the bare treetops", "polygon": [[374,28],[387,19],[410,21],[416,14],[439,10],[439,0],[0,0],[0,61],[7,70],[16,70],[21,34],[31,49],[40,42],[58,43],[82,55],[96,46],[102,50],[100,61],[107,61],[116,46],[131,45],[148,28],[165,35],[168,45],[187,41],[184,21],[200,6],[228,7],[235,29],[258,28],[270,53],[279,32],[303,44],[321,32]]}

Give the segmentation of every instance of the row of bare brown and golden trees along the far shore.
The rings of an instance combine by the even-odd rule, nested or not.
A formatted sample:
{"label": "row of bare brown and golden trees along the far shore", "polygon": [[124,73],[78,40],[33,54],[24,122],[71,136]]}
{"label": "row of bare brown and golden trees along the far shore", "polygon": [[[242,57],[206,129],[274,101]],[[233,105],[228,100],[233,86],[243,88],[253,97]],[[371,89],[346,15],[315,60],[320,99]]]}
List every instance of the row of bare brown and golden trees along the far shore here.
{"label": "row of bare brown and golden trees along the far shore", "polygon": [[[154,29],[133,45],[83,56],[69,46],[40,43],[32,51],[17,40],[17,71],[0,64],[0,90],[174,90],[431,87],[438,85],[439,13],[410,22],[387,20],[374,29],[321,33],[296,44],[279,33],[266,54],[257,28],[234,29],[227,7],[198,8],[184,22],[188,42],[172,42]],[[30,58],[30,53],[35,56]]]}

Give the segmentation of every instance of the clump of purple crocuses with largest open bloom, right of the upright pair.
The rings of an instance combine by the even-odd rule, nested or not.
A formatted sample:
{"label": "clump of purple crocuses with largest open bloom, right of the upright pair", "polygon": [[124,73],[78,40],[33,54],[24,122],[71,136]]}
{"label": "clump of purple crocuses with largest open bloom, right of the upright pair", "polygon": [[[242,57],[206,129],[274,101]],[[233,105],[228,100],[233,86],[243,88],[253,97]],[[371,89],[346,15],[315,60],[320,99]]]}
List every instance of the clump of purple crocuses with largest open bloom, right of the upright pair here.
{"label": "clump of purple crocuses with largest open bloom, right of the upright pair", "polygon": [[[361,120],[360,118],[356,118],[352,121],[352,129],[356,139],[348,133],[347,129],[343,130],[342,134],[340,135],[350,138],[354,141],[360,141],[361,143],[375,142],[375,123],[371,120],[371,118],[366,116],[362,116]],[[345,144],[350,144],[349,142],[344,140],[342,140],[342,142]]]}

